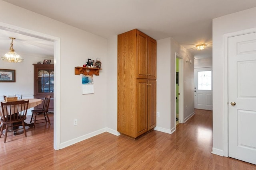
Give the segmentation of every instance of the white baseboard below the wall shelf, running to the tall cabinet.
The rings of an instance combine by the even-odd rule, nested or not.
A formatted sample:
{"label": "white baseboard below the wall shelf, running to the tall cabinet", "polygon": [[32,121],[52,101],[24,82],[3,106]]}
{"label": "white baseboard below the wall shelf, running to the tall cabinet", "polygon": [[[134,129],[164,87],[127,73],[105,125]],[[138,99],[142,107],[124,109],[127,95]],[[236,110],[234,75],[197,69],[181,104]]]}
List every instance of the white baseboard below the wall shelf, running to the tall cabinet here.
{"label": "white baseboard below the wall shelf, running to the tall cabinet", "polygon": [[72,139],[70,141],[66,141],[64,143],[60,143],[60,149],[66,148],[66,147],[68,147],[70,145],[74,145],[74,144],[76,144],[78,142],[84,141],[84,140],[89,139],[91,137],[94,137],[96,135],[100,135],[101,133],[104,133],[104,132],[108,132],[108,133],[111,133],[111,134],[116,135],[116,136],[120,135],[120,133],[118,131],[115,131],[115,130],[110,129],[110,128],[103,128],[103,129],[100,129],[98,131],[94,131],[92,133],[88,133],[86,135],[83,135],[81,137],[77,137],[77,138]]}

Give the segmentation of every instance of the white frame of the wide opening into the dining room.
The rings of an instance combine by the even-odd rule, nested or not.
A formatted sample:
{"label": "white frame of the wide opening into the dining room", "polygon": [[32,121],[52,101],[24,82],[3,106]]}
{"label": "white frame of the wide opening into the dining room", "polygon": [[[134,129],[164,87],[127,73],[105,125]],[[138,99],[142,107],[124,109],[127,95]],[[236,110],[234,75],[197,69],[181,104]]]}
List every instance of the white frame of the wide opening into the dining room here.
{"label": "white frame of the wide opening into the dining room", "polygon": [[0,22],[0,30],[12,31],[20,33],[30,37],[36,37],[47,41],[54,42],[54,137],[53,137],[53,148],[55,150],[60,149],[60,38],[44,33],[32,31],[22,27],[17,27],[7,23]]}

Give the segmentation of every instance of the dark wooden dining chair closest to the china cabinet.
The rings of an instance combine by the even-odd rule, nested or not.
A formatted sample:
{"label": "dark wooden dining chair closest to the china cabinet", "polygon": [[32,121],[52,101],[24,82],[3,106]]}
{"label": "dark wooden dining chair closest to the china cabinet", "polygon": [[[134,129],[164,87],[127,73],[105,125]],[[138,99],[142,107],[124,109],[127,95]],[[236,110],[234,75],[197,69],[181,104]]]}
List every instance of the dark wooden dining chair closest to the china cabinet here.
{"label": "dark wooden dining chair closest to the china cabinet", "polygon": [[[46,95],[44,97],[43,108],[31,111],[32,116],[30,119],[30,123],[32,123],[32,121],[34,121],[34,128],[36,127],[37,123],[44,123],[44,122],[47,123],[48,122],[49,124],[51,124],[49,116],[48,116],[48,108],[49,108],[49,104],[50,104],[50,99],[51,99],[51,96]],[[36,119],[38,114],[44,114],[44,119]],[[40,121],[40,120],[44,120],[44,121]],[[38,121],[40,121],[40,122],[38,122]]]}

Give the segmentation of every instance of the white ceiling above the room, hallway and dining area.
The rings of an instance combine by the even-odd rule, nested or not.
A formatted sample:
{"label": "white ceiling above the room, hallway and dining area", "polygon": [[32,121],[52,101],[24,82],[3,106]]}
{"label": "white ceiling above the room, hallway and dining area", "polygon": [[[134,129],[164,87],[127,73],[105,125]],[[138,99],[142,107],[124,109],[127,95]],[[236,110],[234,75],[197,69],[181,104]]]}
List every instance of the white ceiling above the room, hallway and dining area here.
{"label": "white ceiling above the room, hallway and dining area", "polygon": [[[108,38],[137,28],[159,40],[172,37],[195,58],[212,57],[212,19],[256,6],[256,0],[4,0],[16,6]],[[0,47],[10,41],[0,31]],[[4,37],[5,36],[5,37]],[[15,35],[18,37],[18,35]],[[21,35],[20,35],[21,36]],[[7,38],[6,38],[7,37]],[[16,38],[17,38],[16,37]],[[18,38],[39,51],[39,40]],[[31,41],[31,42],[30,42]],[[33,42],[33,43],[32,43]],[[49,42],[49,41],[48,41]],[[6,43],[6,42],[4,42]],[[31,44],[32,43],[32,44]],[[47,53],[47,41],[42,55]],[[51,42],[52,43],[52,42]],[[196,50],[198,44],[206,49]],[[10,43],[8,43],[10,47]],[[14,49],[18,53],[18,42]],[[49,45],[53,46],[53,45]],[[9,49],[8,47],[8,49]],[[21,48],[20,50],[24,50]],[[31,49],[31,48],[30,48]],[[42,48],[41,48],[42,49]],[[53,55],[53,49],[50,49]]]}

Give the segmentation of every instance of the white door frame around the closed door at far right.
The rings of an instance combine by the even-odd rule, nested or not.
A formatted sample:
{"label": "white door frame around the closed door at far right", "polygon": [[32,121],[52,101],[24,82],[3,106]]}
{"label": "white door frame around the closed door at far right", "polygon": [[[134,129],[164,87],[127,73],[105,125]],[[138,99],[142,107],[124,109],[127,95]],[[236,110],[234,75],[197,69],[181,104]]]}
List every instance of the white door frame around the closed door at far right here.
{"label": "white door frame around the closed door at far right", "polygon": [[228,38],[256,32],[256,28],[226,33],[223,37],[223,156],[228,157]]}

